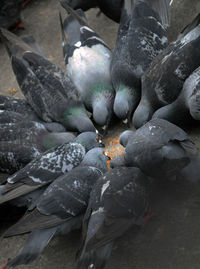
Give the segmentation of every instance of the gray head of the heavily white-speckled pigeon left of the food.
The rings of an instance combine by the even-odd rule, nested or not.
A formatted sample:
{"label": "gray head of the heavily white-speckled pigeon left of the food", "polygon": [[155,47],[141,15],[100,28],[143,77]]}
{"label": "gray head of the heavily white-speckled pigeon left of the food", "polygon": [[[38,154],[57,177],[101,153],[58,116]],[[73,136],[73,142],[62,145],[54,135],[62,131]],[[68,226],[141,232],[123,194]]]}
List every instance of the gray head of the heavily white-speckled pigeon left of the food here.
{"label": "gray head of the heavily white-speckled pigeon left of the food", "polygon": [[78,135],[74,141],[84,146],[86,151],[100,147],[102,145],[101,139],[95,132],[83,132]]}

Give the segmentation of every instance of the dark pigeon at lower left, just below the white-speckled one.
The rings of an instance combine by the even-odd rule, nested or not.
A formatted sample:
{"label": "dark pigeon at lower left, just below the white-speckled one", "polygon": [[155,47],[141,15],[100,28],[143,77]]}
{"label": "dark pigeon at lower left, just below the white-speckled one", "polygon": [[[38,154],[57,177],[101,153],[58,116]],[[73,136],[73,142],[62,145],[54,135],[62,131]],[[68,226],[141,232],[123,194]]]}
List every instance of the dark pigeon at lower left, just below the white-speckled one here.
{"label": "dark pigeon at lower left, just below the white-speckled one", "polygon": [[[57,178],[30,207],[25,216],[11,227],[5,237],[31,232],[19,254],[8,266],[32,262],[59,233],[80,229],[89,195],[97,179],[107,172],[107,157],[101,148],[94,148],[81,163]],[[85,159],[84,159],[85,160]]]}

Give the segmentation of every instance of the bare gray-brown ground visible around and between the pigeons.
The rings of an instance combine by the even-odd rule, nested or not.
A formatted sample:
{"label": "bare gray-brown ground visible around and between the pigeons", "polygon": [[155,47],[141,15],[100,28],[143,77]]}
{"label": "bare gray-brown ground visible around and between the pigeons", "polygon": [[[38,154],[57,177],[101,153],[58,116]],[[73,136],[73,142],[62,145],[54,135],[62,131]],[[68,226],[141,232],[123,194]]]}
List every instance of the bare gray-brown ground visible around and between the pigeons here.
{"label": "bare gray-brown ground visible around and between the pigeons", "polygon": [[[25,30],[22,34],[33,34],[49,60],[63,70],[61,34],[56,0],[32,0],[22,12]],[[174,0],[170,39],[200,11],[199,0]],[[113,49],[118,25],[103,16],[96,17],[98,10],[87,12],[89,24]],[[62,10],[62,14],[65,12]],[[6,51],[0,43],[0,94],[14,97],[21,94]],[[115,137],[125,125],[116,125],[109,130],[108,137]],[[200,145],[200,129],[187,129]],[[3,176],[3,175],[2,175]],[[157,217],[144,227],[134,228],[118,240],[112,251],[107,269],[199,269],[200,268],[200,184],[192,184],[180,178],[172,182],[157,182],[153,186],[152,208]],[[1,214],[1,212],[0,212]],[[0,223],[0,233],[8,223]],[[26,236],[0,241],[0,266],[13,257],[23,245]],[[80,233],[53,239],[44,253],[31,265],[19,266],[27,269],[75,268],[75,253],[79,246]]]}

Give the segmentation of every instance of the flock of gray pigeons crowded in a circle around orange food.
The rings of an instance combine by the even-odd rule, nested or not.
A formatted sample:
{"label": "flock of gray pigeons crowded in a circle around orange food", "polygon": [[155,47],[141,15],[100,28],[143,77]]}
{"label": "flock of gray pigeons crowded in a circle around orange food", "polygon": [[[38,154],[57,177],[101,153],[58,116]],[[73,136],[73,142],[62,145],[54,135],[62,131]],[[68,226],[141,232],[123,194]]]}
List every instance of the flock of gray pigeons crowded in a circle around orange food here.
{"label": "flock of gray pigeons crowded in a circle around orange food", "polygon": [[[174,123],[200,119],[200,16],[169,44],[169,0],[60,3],[67,75],[33,36],[0,29],[26,99],[0,96],[0,171],[10,174],[0,204],[27,208],[3,236],[29,233],[2,268],[32,262],[54,236],[80,228],[77,268],[104,268],[115,240],[147,219],[152,179],[198,158]],[[119,22],[113,53],[84,15],[96,6]],[[102,140],[114,114],[138,129],[120,135],[124,156],[108,171]]]}

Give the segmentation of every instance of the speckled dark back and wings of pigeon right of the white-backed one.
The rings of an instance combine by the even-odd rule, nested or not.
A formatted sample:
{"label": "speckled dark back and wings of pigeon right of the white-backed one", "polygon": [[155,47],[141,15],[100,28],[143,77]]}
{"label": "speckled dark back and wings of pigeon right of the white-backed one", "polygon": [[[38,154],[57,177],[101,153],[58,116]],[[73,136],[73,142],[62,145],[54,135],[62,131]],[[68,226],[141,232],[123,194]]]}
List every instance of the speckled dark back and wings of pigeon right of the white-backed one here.
{"label": "speckled dark back and wings of pigeon right of the white-backed one", "polygon": [[[119,74],[122,68],[120,69],[118,64],[123,64],[126,72],[132,73],[132,80],[134,79],[137,85],[137,80],[151,61],[168,45],[167,32],[148,1],[138,1],[131,15],[127,13],[126,9],[122,12],[111,70],[115,75],[114,80],[117,81],[122,76]],[[128,75],[125,72],[123,75],[128,83]]]}

